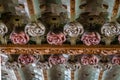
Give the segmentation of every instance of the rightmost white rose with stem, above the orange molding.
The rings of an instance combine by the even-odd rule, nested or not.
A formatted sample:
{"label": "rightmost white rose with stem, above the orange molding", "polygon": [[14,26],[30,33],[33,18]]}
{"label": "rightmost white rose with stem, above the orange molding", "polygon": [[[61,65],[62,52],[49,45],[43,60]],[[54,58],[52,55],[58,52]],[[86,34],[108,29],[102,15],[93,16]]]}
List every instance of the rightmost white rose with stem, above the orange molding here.
{"label": "rightmost white rose with stem, above the orange molding", "polygon": [[110,45],[114,38],[120,34],[120,24],[117,22],[109,22],[102,26],[101,33],[103,34],[102,40],[106,45]]}

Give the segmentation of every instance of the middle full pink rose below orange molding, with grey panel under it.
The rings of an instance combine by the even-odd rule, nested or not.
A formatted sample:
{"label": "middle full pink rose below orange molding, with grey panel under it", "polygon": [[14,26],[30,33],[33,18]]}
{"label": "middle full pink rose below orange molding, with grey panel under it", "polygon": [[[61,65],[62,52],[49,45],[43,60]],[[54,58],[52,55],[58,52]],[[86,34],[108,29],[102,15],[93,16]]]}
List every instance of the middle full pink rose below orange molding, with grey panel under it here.
{"label": "middle full pink rose below orange molding, with grey panel under it", "polygon": [[48,69],[48,80],[71,80],[71,71],[65,68],[67,58],[63,55],[52,55],[49,63],[52,67]]}

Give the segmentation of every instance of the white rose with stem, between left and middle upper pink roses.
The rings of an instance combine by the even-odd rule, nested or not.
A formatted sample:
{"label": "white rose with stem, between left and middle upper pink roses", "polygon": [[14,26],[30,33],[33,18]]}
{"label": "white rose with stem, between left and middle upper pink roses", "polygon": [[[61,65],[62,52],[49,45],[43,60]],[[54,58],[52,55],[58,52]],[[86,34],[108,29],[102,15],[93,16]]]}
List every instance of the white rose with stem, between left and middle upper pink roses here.
{"label": "white rose with stem, between left and middle upper pink roses", "polygon": [[35,38],[37,44],[41,44],[42,36],[45,34],[45,26],[41,22],[28,23],[25,27],[25,33]]}

